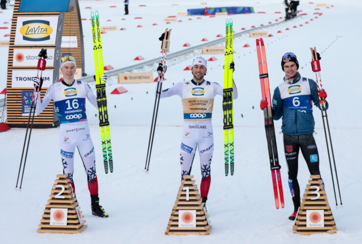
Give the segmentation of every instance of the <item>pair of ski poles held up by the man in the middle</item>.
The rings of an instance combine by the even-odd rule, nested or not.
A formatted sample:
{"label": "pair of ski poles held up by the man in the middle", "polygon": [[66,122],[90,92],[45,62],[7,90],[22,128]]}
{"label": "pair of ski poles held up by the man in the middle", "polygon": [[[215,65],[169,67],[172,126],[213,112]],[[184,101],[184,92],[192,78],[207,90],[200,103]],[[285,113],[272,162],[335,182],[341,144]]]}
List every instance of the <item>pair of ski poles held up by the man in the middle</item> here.
{"label": "pair of ski poles held up by the man in the middle", "polygon": [[[155,96],[155,105],[153,108],[150,138],[148,139],[146,163],[144,165],[144,171],[146,173],[148,173],[148,168],[150,167],[152,145],[153,145],[153,139],[155,137],[156,121],[157,121],[157,114],[158,114],[158,105],[159,105],[159,99],[160,99],[161,91],[162,91],[162,81],[164,80],[164,74],[166,71],[166,56],[167,56],[167,52],[170,48],[170,35],[171,35],[171,29],[168,30],[168,28],[166,28],[165,33],[163,33],[162,36],[159,38],[159,41],[162,41],[161,64],[162,64],[163,69],[162,69],[162,72],[158,71],[158,82],[157,82],[157,91],[156,91],[156,96]],[[155,113],[155,111],[156,111],[156,113]]]}

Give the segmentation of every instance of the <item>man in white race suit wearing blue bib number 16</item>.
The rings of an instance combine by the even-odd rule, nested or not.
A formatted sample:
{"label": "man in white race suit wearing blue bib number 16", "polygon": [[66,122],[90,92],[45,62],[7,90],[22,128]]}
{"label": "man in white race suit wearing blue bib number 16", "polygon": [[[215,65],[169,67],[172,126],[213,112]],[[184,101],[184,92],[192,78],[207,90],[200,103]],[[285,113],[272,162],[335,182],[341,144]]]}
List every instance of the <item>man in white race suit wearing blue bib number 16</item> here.
{"label": "man in white race suit wearing blue bib number 16", "polygon": [[[72,56],[62,58],[63,81],[51,84],[43,100],[40,100],[40,96],[38,97],[36,113],[40,114],[51,100],[54,101],[60,122],[59,146],[63,173],[68,176],[67,178],[74,193],[74,151],[75,147],[77,147],[87,173],[92,214],[99,217],[108,217],[108,214],[99,205],[95,152],[86,114],[86,98],[94,107],[98,108],[97,99],[87,82],[74,80],[75,68],[76,63]],[[107,76],[104,75],[102,80],[106,81]],[[39,78],[35,78],[34,85],[41,87]]]}

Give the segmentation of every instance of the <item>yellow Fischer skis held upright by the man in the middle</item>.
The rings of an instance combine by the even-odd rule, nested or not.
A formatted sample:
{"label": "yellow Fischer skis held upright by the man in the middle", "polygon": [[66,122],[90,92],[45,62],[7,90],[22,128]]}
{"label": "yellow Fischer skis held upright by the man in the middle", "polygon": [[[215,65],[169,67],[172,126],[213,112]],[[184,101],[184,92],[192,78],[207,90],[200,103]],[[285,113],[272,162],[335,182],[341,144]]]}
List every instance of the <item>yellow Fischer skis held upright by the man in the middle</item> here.
{"label": "yellow Fischer skis held upright by the man in the middle", "polygon": [[229,69],[232,62],[233,53],[233,23],[232,19],[226,19],[225,33],[225,63],[224,63],[224,154],[225,154],[225,176],[229,173],[234,174],[234,126],[233,126],[233,108],[232,108],[232,70]]}

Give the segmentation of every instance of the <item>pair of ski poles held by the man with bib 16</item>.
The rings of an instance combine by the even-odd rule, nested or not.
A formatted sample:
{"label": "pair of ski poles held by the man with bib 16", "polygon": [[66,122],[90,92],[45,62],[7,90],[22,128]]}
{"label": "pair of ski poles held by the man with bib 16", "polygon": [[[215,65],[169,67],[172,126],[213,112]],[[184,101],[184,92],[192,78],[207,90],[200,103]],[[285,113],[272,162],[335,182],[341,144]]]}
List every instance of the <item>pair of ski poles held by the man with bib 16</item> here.
{"label": "pair of ski poles held by the man with bib 16", "polygon": [[[38,60],[38,66],[37,66],[37,69],[38,69],[37,77],[39,77],[39,81],[40,81],[42,79],[43,70],[45,70],[45,65],[46,65],[46,60],[45,60],[45,59],[47,59],[46,49],[42,48],[42,50],[40,51],[38,56],[39,56],[39,60]],[[20,160],[18,179],[16,181],[16,186],[15,186],[15,189],[18,189],[19,176],[20,176],[20,171],[22,168],[23,156],[24,156],[24,150],[25,150],[25,143],[26,143],[26,139],[28,139],[27,146],[26,146],[26,152],[25,152],[25,158],[24,158],[24,164],[23,164],[22,180],[20,181],[19,190],[22,189],[26,157],[28,155],[31,130],[33,128],[35,108],[37,106],[38,96],[40,96],[39,94],[40,94],[40,87],[37,90],[34,86],[33,99],[31,101],[31,106],[30,106],[30,111],[29,111],[29,119],[28,119],[28,123],[26,125],[26,133],[25,133],[25,139],[24,139],[24,145],[23,145],[22,159]],[[31,115],[31,112],[33,112],[33,115]],[[31,118],[31,123],[30,123],[30,118]],[[30,125],[30,131],[29,131],[29,137],[27,137],[29,125]]]}

